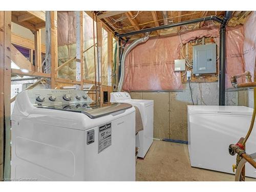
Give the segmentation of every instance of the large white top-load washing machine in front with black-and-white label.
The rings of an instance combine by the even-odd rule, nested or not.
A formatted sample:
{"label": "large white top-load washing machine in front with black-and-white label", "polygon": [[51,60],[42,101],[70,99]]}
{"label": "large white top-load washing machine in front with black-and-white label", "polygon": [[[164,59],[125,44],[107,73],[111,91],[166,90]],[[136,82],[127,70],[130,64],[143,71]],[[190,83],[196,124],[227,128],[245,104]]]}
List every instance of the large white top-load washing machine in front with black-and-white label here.
{"label": "large white top-load washing machine in front with black-and-white label", "polygon": [[99,108],[80,90],[28,90],[12,114],[11,177],[135,181],[135,109]]}

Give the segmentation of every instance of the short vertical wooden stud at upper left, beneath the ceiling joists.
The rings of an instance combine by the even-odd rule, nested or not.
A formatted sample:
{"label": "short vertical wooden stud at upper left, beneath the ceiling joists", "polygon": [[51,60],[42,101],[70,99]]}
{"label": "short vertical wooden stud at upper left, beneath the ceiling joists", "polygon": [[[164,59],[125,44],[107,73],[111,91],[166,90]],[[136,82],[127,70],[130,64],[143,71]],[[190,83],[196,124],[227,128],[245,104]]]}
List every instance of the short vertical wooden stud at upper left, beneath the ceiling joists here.
{"label": "short vertical wooden stud at upper left, beneath the ceiling joists", "polygon": [[35,71],[42,72],[42,53],[41,53],[41,30],[34,33],[35,42]]}

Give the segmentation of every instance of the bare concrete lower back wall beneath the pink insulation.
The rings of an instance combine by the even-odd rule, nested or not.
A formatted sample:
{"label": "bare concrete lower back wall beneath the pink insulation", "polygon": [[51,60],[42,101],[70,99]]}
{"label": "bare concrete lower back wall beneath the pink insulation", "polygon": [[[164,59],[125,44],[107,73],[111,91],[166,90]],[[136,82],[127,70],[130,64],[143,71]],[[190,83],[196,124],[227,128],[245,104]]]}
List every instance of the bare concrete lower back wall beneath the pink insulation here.
{"label": "bare concrete lower back wall beneath the pink insulation", "polygon": [[[154,100],[154,138],[187,141],[187,105],[191,101],[188,83],[182,91],[130,92],[133,99]],[[218,82],[190,83],[197,105],[218,105]],[[226,91],[226,105],[248,106],[248,91]]]}

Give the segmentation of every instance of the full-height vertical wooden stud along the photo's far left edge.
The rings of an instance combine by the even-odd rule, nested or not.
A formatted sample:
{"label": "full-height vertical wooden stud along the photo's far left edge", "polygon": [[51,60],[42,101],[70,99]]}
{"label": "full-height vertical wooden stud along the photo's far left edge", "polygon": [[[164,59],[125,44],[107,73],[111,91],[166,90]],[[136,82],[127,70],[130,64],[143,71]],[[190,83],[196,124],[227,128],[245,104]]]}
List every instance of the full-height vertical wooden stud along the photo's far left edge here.
{"label": "full-height vertical wooden stud along the photo's far left edge", "polygon": [[[10,178],[11,11],[0,11],[0,54],[0,175],[2,176],[1,178]],[[5,154],[3,141],[4,130]],[[3,159],[4,155],[5,159]]]}

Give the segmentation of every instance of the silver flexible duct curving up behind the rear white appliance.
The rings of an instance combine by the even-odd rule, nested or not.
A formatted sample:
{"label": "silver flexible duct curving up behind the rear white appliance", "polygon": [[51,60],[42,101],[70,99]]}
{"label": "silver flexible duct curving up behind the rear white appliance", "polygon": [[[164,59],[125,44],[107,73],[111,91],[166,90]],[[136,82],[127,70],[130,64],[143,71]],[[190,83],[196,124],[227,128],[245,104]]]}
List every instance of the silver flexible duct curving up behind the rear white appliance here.
{"label": "silver flexible duct curving up behind the rear white appliance", "polygon": [[141,44],[142,42],[147,41],[148,38],[150,38],[150,33],[146,33],[144,37],[134,40],[129,46],[127,46],[126,49],[124,49],[122,58],[121,58],[121,65],[120,65],[121,72],[120,72],[120,80],[119,80],[118,89],[117,89],[118,92],[122,92],[122,88],[123,88],[124,73],[125,73],[125,70],[124,70],[125,58],[133,48],[135,48],[137,45]]}

